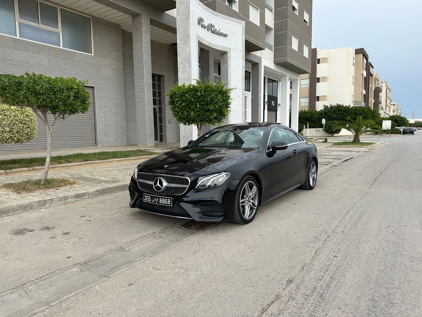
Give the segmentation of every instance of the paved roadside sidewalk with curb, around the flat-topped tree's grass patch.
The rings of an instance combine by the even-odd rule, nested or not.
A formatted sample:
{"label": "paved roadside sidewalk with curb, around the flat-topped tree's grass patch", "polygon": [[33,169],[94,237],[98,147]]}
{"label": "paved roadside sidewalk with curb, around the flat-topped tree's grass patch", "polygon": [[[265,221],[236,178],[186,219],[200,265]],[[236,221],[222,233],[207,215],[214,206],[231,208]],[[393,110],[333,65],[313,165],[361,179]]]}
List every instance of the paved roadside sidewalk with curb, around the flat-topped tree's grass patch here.
{"label": "paved roadside sidewalk with curb, around the flat-topped tree's grass patch", "polygon": [[[331,144],[317,143],[318,150]],[[58,189],[15,194],[0,188],[0,217],[60,205],[79,199],[126,191],[136,164],[145,159],[128,158],[126,161],[104,162],[83,166],[59,167],[49,171],[49,178],[68,178],[78,184]],[[43,171],[0,175],[0,185],[21,180],[39,179]],[[128,196],[129,197],[129,196]]]}

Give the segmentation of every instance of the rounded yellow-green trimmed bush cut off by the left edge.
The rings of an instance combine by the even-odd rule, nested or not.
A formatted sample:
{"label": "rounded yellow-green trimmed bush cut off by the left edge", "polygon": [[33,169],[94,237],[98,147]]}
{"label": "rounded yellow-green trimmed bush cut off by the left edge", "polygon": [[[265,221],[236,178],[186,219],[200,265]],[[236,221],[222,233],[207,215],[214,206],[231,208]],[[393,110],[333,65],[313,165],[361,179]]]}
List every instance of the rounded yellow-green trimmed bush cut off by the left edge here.
{"label": "rounded yellow-green trimmed bush cut off by the left edge", "polygon": [[29,108],[0,104],[0,144],[24,143],[37,135],[37,119]]}

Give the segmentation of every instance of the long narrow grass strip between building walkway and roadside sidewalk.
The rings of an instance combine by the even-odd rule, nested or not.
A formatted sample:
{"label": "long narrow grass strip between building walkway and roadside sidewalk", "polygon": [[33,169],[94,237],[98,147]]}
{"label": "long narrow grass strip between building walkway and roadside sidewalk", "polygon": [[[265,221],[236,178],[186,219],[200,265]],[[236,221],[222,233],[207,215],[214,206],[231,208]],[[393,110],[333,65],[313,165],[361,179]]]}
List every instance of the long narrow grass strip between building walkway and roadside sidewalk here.
{"label": "long narrow grass strip between building walkway and roadside sidewalk", "polygon": [[[102,161],[111,158],[127,158],[136,156],[158,155],[160,153],[148,150],[127,150],[127,151],[103,151],[95,153],[75,153],[69,155],[51,156],[51,165],[67,164],[87,161]],[[0,170],[16,169],[23,167],[44,166],[46,164],[45,157],[36,158],[18,158],[13,160],[0,161]]]}

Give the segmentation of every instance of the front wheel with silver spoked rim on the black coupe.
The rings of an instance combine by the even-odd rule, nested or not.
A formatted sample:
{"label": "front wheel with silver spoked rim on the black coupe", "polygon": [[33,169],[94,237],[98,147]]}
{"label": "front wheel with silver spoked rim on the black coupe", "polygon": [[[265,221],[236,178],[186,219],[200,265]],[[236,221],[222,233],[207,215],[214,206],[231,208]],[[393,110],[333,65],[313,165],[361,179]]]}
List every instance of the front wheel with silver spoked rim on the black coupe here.
{"label": "front wheel with silver spoked rim on the black coupe", "polygon": [[[249,195],[247,195],[248,189],[246,189],[246,186],[249,189]],[[251,190],[254,191],[253,195]],[[248,196],[249,199],[245,200],[246,196]],[[241,200],[243,201],[241,202]],[[255,216],[257,215],[259,202],[260,188],[257,181],[252,176],[243,177],[239,182],[239,186],[236,192],[232,221],[236,224],[249,224],[249,222],[254,220]],[[254,210],[252,210],[252,205],[255,205]]]}

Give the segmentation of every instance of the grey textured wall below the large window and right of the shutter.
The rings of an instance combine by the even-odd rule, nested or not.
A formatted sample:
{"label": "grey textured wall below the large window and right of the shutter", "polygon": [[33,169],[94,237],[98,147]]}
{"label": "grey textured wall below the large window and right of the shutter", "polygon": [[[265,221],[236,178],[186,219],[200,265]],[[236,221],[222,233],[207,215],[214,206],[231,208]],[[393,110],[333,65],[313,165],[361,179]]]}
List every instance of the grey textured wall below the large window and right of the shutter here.
{"label": "grey textured wall below the large window and right of the shutter", "polygon": [[93,55],[0,35],[0,74],[34,71],[88,80],[95,87],[98,145],[125,145],[121,27],[94,17],[92,30]]}

